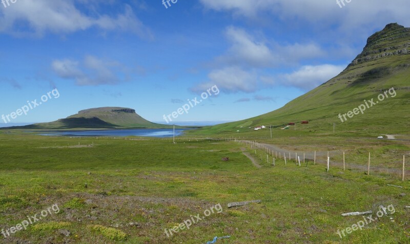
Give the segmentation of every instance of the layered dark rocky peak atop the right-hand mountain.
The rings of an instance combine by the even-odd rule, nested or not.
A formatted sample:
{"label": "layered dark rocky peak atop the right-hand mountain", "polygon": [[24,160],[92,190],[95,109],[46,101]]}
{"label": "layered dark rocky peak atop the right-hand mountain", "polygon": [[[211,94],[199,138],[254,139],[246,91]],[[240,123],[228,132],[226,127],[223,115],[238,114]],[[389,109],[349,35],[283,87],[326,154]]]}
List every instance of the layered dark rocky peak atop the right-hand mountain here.
{"label": "layered dark rocky peak atop the right-hand mountain", "polygon": [[367,39],[363,52],[348,67],[388,56],[407,54],[410,54],[410,28],[390,23]]}

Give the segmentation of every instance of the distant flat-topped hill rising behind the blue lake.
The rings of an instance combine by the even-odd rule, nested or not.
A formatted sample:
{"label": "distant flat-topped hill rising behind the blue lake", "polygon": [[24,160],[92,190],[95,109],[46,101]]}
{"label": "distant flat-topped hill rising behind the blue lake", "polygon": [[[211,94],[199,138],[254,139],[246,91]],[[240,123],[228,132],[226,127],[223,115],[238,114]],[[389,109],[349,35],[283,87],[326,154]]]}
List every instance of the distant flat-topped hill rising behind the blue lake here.
{"label": "distant flat-topped hill rising behind the blue lake", "polygon": [[50,123],[13,127],[14,129],[125,129],[170,128],[169,125],[152,123],[139,116],[134,109],[104,107],[81,110],[67,118]]}

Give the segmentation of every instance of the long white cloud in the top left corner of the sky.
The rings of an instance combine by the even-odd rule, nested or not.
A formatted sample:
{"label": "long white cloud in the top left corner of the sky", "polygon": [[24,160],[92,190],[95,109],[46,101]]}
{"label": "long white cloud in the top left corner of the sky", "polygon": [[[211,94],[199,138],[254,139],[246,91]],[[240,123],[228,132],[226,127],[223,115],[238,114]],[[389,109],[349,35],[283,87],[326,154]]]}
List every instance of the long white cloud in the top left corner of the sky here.
{"label": "long white cloud in the top left corner of the sky", "polygon": [[152,37],[129,5],[125,5],[124,13],[116,16],[101,13],[88,16],[76,4],[94,9],[94,3],[83,0],[18,0],[7,8],[1,5],[0,32],[42,36],[46,32],[66,34],[97,27],[103,31],[131,31],[141,37]]}

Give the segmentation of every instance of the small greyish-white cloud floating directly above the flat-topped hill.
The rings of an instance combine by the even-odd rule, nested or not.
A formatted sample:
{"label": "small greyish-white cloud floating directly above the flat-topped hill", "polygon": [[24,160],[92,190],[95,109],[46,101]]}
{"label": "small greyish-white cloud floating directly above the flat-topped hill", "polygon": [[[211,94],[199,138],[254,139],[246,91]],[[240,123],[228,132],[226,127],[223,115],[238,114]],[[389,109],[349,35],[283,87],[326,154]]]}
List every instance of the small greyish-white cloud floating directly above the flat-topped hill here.
{"label": "small greyish-white cloud floating directly above the flat-topped hill", "polygon": [[114,85],[125,81],[127,68],[115,61],[106,61],[86,56],[82,62],[70,59],[54,60],[54,72],[63,79],[75,80],[79,86]]}

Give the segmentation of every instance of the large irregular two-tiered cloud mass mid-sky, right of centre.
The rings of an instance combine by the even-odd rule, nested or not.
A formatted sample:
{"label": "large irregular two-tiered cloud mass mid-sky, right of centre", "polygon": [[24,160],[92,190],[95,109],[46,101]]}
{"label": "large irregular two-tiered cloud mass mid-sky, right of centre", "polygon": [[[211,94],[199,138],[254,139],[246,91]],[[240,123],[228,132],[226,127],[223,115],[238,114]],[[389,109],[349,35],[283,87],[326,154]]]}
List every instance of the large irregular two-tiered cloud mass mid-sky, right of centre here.
{"label": "large irregular two-tiered cloud mass mid-sky, right of centre", "polygon": [[[208,81],[191,90],[202,92],[217,85],[226,92],[252,93],[262,86],[276,84],[276,77],[264,75],[267,68],[284,65],[297,65],[301,60],[325,56],[325,52],[315,43],[279,45],[270,48],[263,41],[258,41],[240,28],[229,27],[226,30],[231,46],[226,54],[214,61],[215,67],[208,75]],[[222,68],[220,68],[222,67]],[[295,84],[300,86],[300,84]]]}

